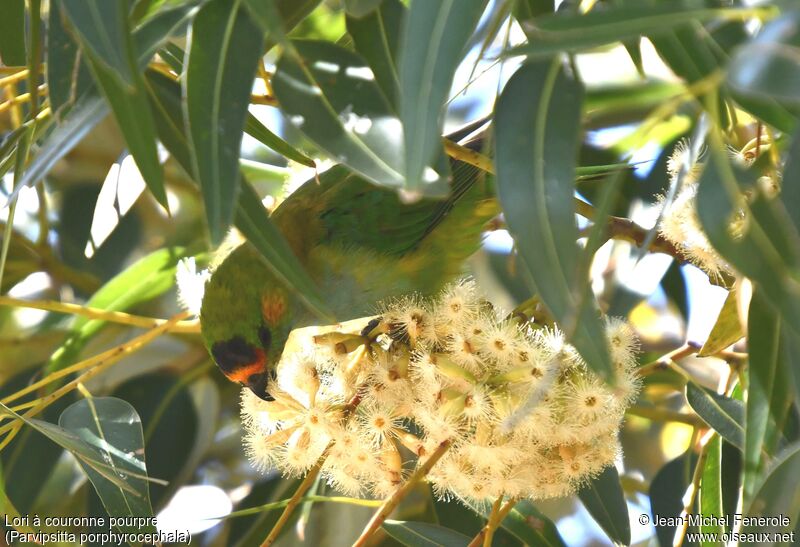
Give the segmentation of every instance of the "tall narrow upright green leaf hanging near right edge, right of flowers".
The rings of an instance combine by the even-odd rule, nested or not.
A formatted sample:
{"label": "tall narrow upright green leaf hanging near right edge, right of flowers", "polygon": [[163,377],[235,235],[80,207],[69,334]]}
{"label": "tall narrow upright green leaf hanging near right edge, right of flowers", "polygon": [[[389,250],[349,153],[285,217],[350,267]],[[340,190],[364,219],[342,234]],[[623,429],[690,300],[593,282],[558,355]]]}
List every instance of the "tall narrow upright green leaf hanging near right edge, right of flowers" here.
{"label": "tall narrow upright green leaf hanging near right edge, right of flowers", "polygon": [[[754,494],[765,462],[762,454],[772,454],[783,431],[792,402],[788,363],[782,351],[781,317],[766,300],[759,285],[750,300],[747,319],[747,429],[744,449],[744,500]],[[770,418],[772,427],[770,427]]]}

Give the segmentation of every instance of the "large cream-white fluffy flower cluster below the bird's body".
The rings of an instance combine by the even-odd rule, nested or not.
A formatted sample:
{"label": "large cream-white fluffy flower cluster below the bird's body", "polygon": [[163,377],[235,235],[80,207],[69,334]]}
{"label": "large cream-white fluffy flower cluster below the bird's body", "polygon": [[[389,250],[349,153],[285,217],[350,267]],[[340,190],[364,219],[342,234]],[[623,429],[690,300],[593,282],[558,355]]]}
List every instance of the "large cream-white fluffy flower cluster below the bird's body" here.
{"label": "large cream-white fluffy flower cluster below the bird's body", "polygon": [[471,282],[434,302],[389,305],[369,328],[317,337],[286,355],[274,401],[244,391],[246,446],[257,465],[299,474],[327,450],[329,484],[385,496],[413,460],[448,441],[428,475],[441,496],[536,499],[573,492],[617,458],[638,390],[638,342],[627,323],[607,321],[613,387],[558,331],[498,318]]}

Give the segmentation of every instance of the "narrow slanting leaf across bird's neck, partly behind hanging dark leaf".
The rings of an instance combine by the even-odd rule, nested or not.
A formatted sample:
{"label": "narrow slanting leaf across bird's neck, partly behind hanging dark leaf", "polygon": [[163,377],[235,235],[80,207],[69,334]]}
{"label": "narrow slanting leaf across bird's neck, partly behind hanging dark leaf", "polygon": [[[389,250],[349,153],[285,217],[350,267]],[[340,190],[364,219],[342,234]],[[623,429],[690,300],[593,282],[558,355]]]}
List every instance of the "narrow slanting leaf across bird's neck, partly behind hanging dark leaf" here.
{"label": "narrow slanting leaf across bird's neck, partly behind hanging dark leaf", "polygon": [[[147,74],[153,110],[157,113],[158,134],[164,146],[181,166],[190,172],[191,159],[180,112],[181,96],[177,84],[163,74]],[[314,281],[291,251],[286,238],[272,223],[266,208],[246,181],[236,203],[236,227],[255,245],[269,268],[296,292],[308,309],[321,318],[331,318],[330,310]]]}

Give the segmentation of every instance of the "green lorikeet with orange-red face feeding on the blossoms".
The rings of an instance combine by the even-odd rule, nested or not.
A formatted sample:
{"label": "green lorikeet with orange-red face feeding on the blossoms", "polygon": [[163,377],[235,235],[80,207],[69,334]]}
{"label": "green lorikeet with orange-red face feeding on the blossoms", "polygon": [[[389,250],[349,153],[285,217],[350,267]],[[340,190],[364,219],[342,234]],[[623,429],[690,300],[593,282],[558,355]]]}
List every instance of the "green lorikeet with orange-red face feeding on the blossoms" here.
{"label": "green lorikeet with orange-red face feeding on the blossoms", "polygon": [[[459,274],[497,204],[483,172],[461,162],[452,167],[445,200],[404,204],[395,191],[337,166],[276,209],[273,220],[337,320],[373,314],[387,298],[430,295]],[[249,243],[214,271],[200,321],[222,372],[264,399],[289,332],[319,323]]]}

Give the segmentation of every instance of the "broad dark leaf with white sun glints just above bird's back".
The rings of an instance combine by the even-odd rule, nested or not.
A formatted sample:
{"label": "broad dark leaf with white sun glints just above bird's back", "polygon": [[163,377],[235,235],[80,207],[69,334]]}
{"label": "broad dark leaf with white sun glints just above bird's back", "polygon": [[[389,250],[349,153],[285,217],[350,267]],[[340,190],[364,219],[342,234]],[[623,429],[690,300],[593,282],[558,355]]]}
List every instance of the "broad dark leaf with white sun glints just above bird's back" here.
{"label": "broad dark leaf with white sun glints just above bird's back", "polygon": [[[337,161],[376,184],[402,187],[400,123],[357,54],[323,41],[295,41],[272,86],[289,122]],[[446,181],[437,178],[443,193]]]}

